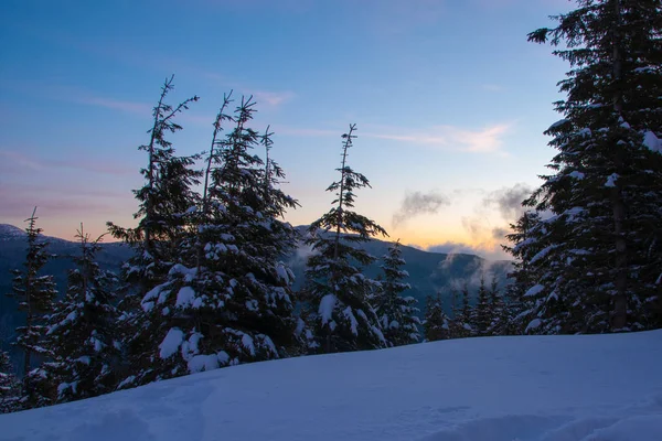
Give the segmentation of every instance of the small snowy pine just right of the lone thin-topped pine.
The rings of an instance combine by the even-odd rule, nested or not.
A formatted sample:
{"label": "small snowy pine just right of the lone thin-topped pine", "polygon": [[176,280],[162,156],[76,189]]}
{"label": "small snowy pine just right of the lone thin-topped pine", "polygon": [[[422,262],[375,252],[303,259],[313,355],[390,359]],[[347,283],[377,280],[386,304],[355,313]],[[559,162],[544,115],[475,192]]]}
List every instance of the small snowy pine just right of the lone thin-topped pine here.
{"label": "small snowy pine just right of the lone thin-topped pine", "polygon": [[408,290],[409,283],[404,282],[409,273],[402,269],[405,266],[399,240],[388,247],[388,252],[382,257],[383,277],[380,280],[381,290],[376,300],[376,312],[382,323],[386,341],[393,346],[417,343],[420,340],[418,326],[418,301],[410,295],[402,297]]}

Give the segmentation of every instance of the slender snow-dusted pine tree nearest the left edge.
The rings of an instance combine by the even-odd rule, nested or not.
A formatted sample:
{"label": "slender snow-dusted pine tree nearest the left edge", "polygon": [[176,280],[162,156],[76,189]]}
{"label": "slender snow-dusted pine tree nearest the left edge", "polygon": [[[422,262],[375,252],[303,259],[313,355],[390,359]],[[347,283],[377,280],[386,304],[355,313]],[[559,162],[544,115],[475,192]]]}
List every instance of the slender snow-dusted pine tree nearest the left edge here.
{"label": "slender snow-dusted pine tree nearest the left edge", "polygon": [[25,315],[25,325],[17,327],[17,341],[12,343],[23,352],[23,387],[21,407],[29,409],[50,404],[49,386],[44,383],[41,368],[32,368],[35,356],[47,356],[43,346],[45,316],[53,310],[57,289],[53,276],[42,275],[44,265],[53,256],[46,251],[49,243],[40,237],[42,229],[36,227],[36,207],[25,222],[28,227],[28,254],[23,269],[12,270],[14,275],[12,292],[9,297],[19,302],[19,311]]}

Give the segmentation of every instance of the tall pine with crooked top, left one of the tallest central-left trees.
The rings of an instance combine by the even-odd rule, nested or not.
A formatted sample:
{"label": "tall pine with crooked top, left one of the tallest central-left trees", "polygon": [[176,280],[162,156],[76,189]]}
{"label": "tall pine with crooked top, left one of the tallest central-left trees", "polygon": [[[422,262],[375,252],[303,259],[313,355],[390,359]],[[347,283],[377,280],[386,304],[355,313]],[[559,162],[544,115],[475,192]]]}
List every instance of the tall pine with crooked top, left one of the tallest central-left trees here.
{"label": "tall pine with crooked top, left one of the tallest central-left trees", "polygon": [[150,321],[140,302],[154,287],[163,283],[169,271],[192,251],[190,240],[193,234],[197,193],[193,187],[200,184],[202,173],[193,169],[199,155],[178,157],[168,133],[182,130],[174,118],[197,101],[197,96],[185,99],[178,106],[166,103],[174,88],[174,76],[166,79],[158,104],[152,111],[153,123],[149,142],[138,149],[147,152],[147,166],[140,173],[145,185],[135,190],[139,202],[138,219],[135,228],[122,228],[108,223],[110,234],[135,249],[122,267],[124,298],[119,304],[118,327],[122,333],[124,366],[119,376],[125,378],[122,387],[134,384],[138,373],[150,369],[148,353],[152,346]]}

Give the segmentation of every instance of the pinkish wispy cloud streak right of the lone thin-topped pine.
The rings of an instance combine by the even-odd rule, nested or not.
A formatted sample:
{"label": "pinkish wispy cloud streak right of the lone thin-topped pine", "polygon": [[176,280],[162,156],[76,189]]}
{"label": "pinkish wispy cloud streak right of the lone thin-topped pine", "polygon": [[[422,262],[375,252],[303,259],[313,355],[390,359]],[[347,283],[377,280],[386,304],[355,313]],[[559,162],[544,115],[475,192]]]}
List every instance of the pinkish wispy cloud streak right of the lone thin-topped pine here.
{"label": "pinkish wispy cloud streak right of the lone thin-topped pine", "polygon": [[391,132],[364,132],[362,136],[466,152],[495,153],[501,152],[503,137],[511,128],[511,123],[499,123],[482,129],[436,126],[415,132],[392,129]]}

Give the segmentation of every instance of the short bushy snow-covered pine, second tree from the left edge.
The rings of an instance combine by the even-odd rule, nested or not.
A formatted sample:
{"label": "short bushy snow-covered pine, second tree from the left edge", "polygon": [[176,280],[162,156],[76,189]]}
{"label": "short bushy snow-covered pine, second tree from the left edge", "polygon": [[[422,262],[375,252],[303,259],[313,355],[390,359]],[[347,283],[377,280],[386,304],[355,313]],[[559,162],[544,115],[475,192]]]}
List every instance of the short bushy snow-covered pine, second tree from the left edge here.
{"label": "short bushy snow-covered pine, second tree from the left edge", "polygon": [[120,355],[118,312],[114,305],[117,277],[96,261],[100,249],[81,229],[81,254],[73,257],[67,291],[49,316],[46,346],[52,361],[44,368],[57,386],[57,401],[73,401],[113,391]]}

